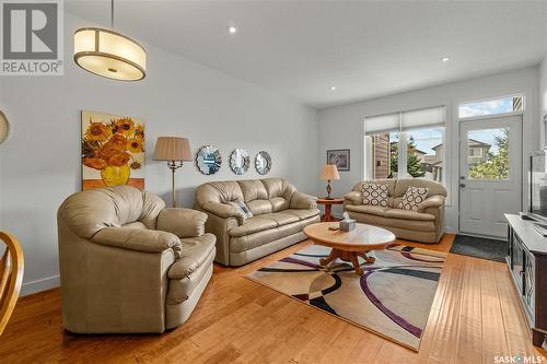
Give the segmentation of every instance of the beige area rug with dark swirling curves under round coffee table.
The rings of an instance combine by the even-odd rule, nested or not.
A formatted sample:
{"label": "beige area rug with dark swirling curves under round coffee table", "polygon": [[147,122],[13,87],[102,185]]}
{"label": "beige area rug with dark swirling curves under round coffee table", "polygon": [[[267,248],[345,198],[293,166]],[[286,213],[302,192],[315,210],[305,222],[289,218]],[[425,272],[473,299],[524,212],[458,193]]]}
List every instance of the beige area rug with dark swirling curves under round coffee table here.
{"label": "beige area rug with dark swirling curves under round coffee table", "polygon": [[329,251],[310,245],[247,278],[417,351],[446,255],[392,245],[360,258],[359,277],[339,259],[321,267]]}

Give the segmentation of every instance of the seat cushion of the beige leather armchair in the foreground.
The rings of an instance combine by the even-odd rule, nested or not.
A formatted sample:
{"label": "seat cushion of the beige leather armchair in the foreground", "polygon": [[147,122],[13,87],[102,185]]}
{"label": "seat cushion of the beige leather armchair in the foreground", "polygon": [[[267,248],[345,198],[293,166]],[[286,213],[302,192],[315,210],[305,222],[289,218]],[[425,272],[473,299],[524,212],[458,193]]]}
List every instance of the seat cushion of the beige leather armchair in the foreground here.
{"label": "seat cushion of the beige leather armchair in the foreground", "polygon": [[183,279],[195,272],[214,249],[217,238],[212,234],[181,239],[181,257],[171,266],[170,279]]}

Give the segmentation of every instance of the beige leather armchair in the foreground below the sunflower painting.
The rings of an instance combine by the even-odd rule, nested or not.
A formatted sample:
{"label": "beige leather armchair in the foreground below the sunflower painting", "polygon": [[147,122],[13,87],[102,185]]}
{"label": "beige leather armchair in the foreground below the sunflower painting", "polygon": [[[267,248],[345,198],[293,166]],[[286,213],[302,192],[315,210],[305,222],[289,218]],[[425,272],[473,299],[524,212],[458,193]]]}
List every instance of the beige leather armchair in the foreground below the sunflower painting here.
{"label": "beige leather armchair in the foreground below the sunflower painting", "polygon": [[207,215],[129,186],[59,208],[62,321],[72,332],[162,332],[183,324],[212,274]]}

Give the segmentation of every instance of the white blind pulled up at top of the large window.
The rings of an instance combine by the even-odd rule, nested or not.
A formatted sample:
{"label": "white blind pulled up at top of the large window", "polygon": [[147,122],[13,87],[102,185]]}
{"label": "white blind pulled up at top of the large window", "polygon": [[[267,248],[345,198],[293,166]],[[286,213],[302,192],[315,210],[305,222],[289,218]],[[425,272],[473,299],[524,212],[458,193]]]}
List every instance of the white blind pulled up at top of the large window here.
{"label": "white blind pulled up at top of the large window", "polygon": [[444,126],[444,106],[384,114],[364,119],[365,136]]}

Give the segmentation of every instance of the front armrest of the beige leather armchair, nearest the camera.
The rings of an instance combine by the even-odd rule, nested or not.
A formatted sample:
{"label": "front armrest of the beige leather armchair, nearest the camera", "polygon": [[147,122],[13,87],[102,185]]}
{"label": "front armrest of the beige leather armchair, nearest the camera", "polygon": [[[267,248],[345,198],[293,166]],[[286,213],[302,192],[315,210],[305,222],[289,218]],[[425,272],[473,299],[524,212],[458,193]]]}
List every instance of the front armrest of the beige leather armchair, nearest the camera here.
{"label": "front armrest of the beige leather armchair, nearest the camera", "polygon": [[123,249],[162,253],[173,249],[175,257],[181,256],[181,240],[175,234],[148,228],[104,227],[91,242]]}

